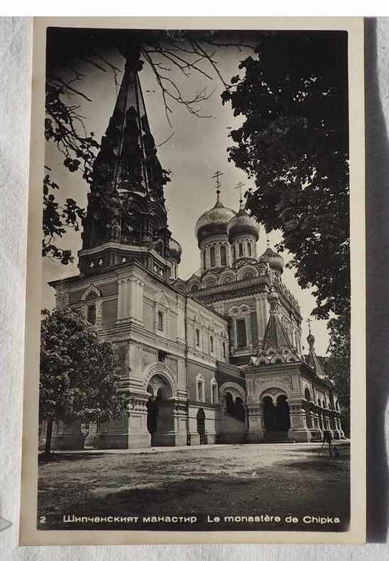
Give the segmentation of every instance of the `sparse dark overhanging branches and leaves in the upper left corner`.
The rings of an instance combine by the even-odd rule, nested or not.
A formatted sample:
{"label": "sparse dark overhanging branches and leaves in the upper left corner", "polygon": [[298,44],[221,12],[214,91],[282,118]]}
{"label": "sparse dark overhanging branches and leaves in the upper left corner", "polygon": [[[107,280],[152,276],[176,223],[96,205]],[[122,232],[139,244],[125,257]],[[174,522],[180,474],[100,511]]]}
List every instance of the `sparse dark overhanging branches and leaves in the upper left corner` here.
{"label": "sparse dark overhanging branches and leaves in the upper left corner", "polygon": [[[82,91],[84,68],[92,66],[104,73],[112,72],[119,84],[121,70],[112,62],[115,60],[112,53],[119,51],[125,58],[135,57],[153,73],[169,124],[175,104],[183,105],[195,117],[207,118],[211,116],[202,113],[201,104],[209,99],[213,90],[208,92],[202,87],[192,95],[184,95],[181,85],[172,78],[172,71],[176,70],[183,79],[193,74],[211,81],[217,77],[228,87],[214,55],[219,48],[251,48],[242,37],[242,34],[231,36],[223,31],[49,28],[45,139],[56,144],[68,171],[81,172],[85,182],[92,183],[94,159],[100,146],[94,132],[87,131],[80,114],[80,102],[92,102]],[[57,200],[60,186],[50,177],[51,169],[47,171],[43,181],[42,252],[43,256],[67,265],[74,259],[72,252],[58,244],[69,228],[80,230],[84,208],[72,198],[60,204]]]}

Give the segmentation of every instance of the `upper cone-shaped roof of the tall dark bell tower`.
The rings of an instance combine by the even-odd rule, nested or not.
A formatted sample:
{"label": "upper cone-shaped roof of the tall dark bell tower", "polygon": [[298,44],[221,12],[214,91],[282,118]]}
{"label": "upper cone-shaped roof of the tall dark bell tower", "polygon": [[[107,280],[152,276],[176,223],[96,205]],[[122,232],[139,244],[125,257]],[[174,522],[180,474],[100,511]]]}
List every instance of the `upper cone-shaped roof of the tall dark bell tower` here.
{"label": "upper cone-shaped roof of the tall dark bell tower", "polygon": [[167,178],[150,132],[138,76],[141,64],[136,58],[126,60],[114,112],[94,165],[94,181],[110,184],[119,192],[133,191],[159,198]]}

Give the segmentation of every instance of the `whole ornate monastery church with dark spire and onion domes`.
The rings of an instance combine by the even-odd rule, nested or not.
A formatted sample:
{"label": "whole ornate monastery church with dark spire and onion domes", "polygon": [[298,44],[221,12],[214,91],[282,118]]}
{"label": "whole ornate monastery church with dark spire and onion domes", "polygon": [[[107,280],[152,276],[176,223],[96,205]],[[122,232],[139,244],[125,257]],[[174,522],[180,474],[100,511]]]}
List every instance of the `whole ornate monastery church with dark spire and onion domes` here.
{"label": "whole ornate monastery church with dark spire and onion domes", "polygon": [[300,307],[283,283],[283,257],[258,255],[259,229],[241,200],[217,201],[195,225],[200,267],[179,274],[157,157],[138,77],[128,59],[94,164],[80,274],[50,282],[56,306],[79,311],[110,341],[124,372],[121,420],[89,434],[59,424],[54,449],[309,442],[344,437],[336,388]]}

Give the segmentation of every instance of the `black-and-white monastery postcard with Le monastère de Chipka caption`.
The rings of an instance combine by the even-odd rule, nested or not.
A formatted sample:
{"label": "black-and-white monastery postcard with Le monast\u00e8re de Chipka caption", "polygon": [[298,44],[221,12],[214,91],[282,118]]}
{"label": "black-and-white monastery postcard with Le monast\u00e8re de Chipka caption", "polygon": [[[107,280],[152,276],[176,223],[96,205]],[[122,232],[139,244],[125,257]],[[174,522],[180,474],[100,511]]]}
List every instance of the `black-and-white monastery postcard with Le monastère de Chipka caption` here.
{"label": "black-and-white monastery postcard with Le monast\u00e8re de Chipka caption", "polygon": [[352,527],[351,33],[222,19],[40,37],[40,543]]}

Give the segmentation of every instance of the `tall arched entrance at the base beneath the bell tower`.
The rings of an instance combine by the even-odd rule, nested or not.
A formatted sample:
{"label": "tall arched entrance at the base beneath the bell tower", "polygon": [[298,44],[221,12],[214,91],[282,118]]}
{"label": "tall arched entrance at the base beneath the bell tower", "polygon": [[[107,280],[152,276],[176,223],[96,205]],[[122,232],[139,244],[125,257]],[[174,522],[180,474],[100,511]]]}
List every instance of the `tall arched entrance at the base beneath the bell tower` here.
{"label": "tall arched entrance at the base beneath the bell tower", "polygon": [[170,383],[162,375],[150,378],[147,391],[147,429],[151,434],[151,446],[168,446],[174,431],[174,400]]}

